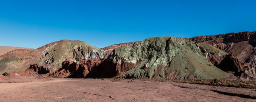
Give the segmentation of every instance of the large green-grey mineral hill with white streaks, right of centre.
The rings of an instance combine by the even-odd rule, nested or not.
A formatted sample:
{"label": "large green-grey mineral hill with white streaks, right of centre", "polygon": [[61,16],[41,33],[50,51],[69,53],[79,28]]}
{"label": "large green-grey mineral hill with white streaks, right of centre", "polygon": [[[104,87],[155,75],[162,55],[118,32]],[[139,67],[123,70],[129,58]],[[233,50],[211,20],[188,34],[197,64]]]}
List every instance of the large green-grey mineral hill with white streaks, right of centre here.
{"label": "large green-grey mineral hill with white streaks, right of centre", "polygon": [[213,79],[228,74],[213,66],[196,43],[184,38],[148,38],[117,48],[110,57],[123,78]]}

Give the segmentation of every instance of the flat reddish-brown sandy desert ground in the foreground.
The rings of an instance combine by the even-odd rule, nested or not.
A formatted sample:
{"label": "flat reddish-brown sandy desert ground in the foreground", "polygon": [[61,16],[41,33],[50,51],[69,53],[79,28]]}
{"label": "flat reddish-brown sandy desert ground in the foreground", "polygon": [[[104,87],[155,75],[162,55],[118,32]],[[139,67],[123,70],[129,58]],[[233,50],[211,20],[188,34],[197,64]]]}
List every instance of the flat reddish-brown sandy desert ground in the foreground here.
{"label": "flat reddish-brown sandy desert ground in the foreground", "polygon": [[256,102],[256,89],[113,79],[2,78],[0,102]]}

